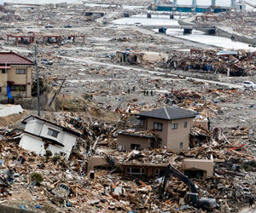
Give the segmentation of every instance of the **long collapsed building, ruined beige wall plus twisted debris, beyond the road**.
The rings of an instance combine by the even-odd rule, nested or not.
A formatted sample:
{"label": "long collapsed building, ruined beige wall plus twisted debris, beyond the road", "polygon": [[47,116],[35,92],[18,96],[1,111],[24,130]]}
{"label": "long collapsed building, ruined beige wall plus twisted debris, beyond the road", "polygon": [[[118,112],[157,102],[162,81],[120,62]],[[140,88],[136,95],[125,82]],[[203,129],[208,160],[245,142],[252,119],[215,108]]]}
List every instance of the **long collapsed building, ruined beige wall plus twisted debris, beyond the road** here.
{"label": "long collapsed building, ruined beige wall plus twisted debris, beyond the road", "polygon": [[155,52],[117,51],[114,61],[131,65],[224,74],[227,76],[252,76],[255,72],[255,52],[229,50],[190,49],[190,52],[174,50],[172,54]]}

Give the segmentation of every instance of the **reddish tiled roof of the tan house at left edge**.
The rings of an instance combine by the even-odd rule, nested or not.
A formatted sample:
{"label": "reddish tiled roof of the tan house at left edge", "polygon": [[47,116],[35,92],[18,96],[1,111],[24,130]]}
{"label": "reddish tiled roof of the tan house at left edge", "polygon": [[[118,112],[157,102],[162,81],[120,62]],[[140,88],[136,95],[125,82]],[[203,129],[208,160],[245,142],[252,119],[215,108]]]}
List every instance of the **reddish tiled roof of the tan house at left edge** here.
{"label": "reddish tiled roof of the tan house at left edge", "polygon": [[33,65],[34,63],[32,60],[28,60],[14,52],[0,52],[0,64]]}

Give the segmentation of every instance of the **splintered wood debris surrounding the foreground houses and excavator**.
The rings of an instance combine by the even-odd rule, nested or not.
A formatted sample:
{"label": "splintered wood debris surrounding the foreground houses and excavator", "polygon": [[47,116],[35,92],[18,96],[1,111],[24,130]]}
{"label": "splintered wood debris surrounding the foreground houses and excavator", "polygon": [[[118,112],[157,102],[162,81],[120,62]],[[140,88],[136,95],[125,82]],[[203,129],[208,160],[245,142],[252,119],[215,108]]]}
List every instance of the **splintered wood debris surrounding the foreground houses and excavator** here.
{"label": "splintered wood debris surrounding the foreground houses and excavator", "polygon": [[[212,90],[209,94],[216,93],[234,95],[237,92]],[[185,92],[180,94],[189,95],[195,100],[201,100],[202,96]],[[191,103],[187,106],[196,107]],[[201,196],[217,199],[217,212],[237,212],[238,205],[247,204],[247,199],[255,193],[252,181],[255,176],[252,171],[256,164],[247,152],[247,146],[241,140],[236,141],[237,137],[250,133],[247,128],[214,129],[211,132],[195,126],[190,130],[190,135],[200,140],[195,141],[197,143],[194,145],[190,144],[189,151],[172,153],[166,149],[152,149],[124,153],[111,148],[106,150],[106,145],[109,147],[109,144],[115,143],[117,125],[99,122],[96,118],[83,117],[74,112],[55,112],[55,117],[45,114],[43,118],[84,136],[79,139],[67,161],[61,155],[40,157],[25,151],[17,146],[20,131],[15,133],[8,130],[7,133],[7,130],[2,130],[1,202],[5,204],[15,204],[16,207],[27,210],[41,208],[44,211],[195,211],[194,207],[183,205],[182,198],[189,192],[189,187],[182,181],[172,177],[167,182],[166,200],[163,201],[160,199],[162,181],[126,176],[117,169],[119,164],[155,164],[163,168],[172,164],[177,169],[182,169],[184,158],[215,160],[214,176],[205,181],[196,178],[193,181],[199,187]],[[87,164],[90,156],[106,154],[110,158],[118,159],[117,167],[111,171],[99,169],[86,175],[89,172]],[[250,188],[249,192],[247,188]],[[23,201],[18,196],[20,191],[29,195]]]}

